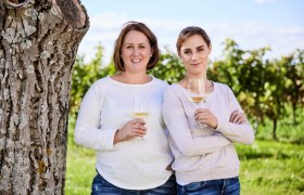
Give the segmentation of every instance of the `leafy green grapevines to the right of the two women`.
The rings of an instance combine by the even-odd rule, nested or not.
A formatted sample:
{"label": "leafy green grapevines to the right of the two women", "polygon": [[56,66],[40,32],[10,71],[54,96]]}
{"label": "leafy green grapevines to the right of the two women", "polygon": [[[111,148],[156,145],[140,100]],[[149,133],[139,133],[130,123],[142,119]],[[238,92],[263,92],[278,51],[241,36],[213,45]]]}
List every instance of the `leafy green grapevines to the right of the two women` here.
{"label": "leafy green grapevines to the right of the two women", "polygon": [[255,128],[273,120],[273,138],[277,139],[278,120],[286,117],[284,105],[293,103],[295,123],[296,105],[303,105],[303,51],[289,57],[266,60],[269,48],[243,51],[227,39],[224,58],[215,61],[208,77],[231,87]]}

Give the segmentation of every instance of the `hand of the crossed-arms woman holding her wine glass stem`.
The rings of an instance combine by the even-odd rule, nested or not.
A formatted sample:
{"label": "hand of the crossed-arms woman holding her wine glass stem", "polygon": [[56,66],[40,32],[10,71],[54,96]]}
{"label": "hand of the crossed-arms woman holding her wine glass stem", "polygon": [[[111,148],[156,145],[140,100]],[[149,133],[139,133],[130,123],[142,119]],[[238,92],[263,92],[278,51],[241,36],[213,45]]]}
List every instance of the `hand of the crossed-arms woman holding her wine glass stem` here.
{"label": "hand of the crossed-arms woman holding her wine glass stem", "polygon": [[213,129],[217,128],[217,118],[208,108],[199,108],[194,113],[194,118],[198,122],[206,123]]}

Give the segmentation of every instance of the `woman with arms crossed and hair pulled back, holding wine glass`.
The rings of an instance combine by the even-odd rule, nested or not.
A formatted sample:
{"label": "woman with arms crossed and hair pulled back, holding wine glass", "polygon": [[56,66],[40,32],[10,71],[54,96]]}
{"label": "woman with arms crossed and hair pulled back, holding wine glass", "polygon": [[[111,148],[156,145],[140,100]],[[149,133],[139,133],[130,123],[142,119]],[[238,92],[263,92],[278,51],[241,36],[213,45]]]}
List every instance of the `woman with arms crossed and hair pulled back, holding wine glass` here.
{"label": "woman with arms crossed and hair pulled back, holding wine glass", "polygon": [[[163,117],[175,157],[177,194],[240,194],[240,162],[233,143],[251,144],[252,126],[231,89],[207,78],[212,44],[205,30],[183,28],[176,47],[187,74],[166,89]],[[198,92],[189,87],[192,80],[204,91],[193,102],[190,96]]]}

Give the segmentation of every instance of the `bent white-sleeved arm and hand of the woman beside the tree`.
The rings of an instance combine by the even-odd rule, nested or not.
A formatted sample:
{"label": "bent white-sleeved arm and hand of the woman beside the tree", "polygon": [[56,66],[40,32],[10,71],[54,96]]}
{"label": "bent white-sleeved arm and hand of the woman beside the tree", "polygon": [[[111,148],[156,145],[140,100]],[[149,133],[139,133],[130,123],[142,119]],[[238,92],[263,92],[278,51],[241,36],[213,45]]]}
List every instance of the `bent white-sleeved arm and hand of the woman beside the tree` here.
{"label": "bent white-sleeved arm and hand of the woman beside the tree", "polygon": [[98,151],[112,151],[114,144],[118,142],[143,136],[147,129],[145,122],[141,119],[129,120],[119,129],[100,128],[101,112],[106,110],[102,110],[104,99],[99,89],[97,84],[93,84],[83,100],[74,132],[75,142]]}

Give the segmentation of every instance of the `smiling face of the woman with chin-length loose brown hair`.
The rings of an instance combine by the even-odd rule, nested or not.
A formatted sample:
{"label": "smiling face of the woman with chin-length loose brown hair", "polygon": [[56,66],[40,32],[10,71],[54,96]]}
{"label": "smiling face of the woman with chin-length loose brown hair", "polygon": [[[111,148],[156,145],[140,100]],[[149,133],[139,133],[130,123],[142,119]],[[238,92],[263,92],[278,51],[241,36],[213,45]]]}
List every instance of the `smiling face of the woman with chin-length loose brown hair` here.
{"label": "smiling face of the woman with chin-length loose brown hair", "polygon": [[130,30],[123,42],[121,57],[126,72],[147,72],[147,65],[153,53],[144,34]]}

